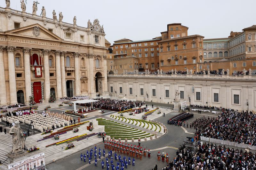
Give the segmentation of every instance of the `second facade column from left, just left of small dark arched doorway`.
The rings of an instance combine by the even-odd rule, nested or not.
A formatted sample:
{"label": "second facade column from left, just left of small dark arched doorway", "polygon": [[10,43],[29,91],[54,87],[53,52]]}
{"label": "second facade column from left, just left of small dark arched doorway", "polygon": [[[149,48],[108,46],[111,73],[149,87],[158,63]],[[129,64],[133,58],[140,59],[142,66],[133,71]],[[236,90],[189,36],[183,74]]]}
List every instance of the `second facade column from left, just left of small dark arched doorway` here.
{"label": "second facade column from left, just left of small dark arched doorway", "polygon": [[9,70],[9,84],[10,84],[10,104],[17,103],[16,92],[16,76],[15,76],[15,64],[14,64],[14,46],[7,46],[8,53],[8,70]]}

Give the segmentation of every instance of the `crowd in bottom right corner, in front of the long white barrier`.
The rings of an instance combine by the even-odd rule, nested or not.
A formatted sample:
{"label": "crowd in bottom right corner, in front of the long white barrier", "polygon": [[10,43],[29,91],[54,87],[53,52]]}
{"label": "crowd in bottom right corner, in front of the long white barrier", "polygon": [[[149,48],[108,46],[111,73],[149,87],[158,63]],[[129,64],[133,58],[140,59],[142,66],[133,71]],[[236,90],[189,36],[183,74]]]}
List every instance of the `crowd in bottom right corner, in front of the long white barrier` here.
{"label": "crowd in bottom right corner, in front of the long white barrier", "polygon": [[197,152],[192,154],[189,150],[180,148],[176,157],[169,163],[172,170],[252,170],[256,169],[255,153],[228,148],[216,144],[197,142]]}

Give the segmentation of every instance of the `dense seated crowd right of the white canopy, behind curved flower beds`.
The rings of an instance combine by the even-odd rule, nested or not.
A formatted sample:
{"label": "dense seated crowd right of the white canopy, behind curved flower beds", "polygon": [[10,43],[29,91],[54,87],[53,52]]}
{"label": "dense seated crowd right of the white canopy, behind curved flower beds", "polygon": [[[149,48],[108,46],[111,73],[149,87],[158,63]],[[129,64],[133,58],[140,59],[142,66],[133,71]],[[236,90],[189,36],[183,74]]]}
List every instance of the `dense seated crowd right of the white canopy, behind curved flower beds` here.
{"label": "dense seated crowd right of the white canopy, behind curved flower beds", "polygon": [[[130,108],[140,107],[144,105],[144,102],[137,102],[131,100],[114,100],[102,98],[95,100],[99,101],[93,102],[93,107],[115,111],[124,111]],[[91,103],[86,103],[85,106],[90,107]]]}

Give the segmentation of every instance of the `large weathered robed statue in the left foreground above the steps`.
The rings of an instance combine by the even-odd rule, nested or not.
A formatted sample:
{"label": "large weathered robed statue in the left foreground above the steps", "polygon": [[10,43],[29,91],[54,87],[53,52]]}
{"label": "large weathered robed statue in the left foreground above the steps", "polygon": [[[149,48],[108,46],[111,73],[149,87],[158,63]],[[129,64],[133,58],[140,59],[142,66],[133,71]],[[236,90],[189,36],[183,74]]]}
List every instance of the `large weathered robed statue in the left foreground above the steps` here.
{"label": "large weathered robed statue in the left foreground above the steps", "polygon": [[25,147],[25,140],[18,122],[14,122],[14,126],[11,127],[9,133],[12,135],[12,153],[23,150]]}

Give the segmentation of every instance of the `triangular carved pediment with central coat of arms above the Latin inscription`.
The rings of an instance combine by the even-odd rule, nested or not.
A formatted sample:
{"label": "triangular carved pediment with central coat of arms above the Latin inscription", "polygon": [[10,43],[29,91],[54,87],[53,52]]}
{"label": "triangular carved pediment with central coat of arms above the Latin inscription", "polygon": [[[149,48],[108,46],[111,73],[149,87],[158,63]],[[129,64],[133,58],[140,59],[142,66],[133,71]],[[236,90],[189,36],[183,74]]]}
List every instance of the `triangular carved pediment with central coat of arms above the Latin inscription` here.
{"label": "triangular carved pediment with central coat of arms above the Latin inscription", "polygon": [[47,40],[59,40],[59,41],[62,40],[59,36],[50,32],[40,24],[33,24],[30,26],[24,26],[21,28],[6,31],[5,34],[14,35],[14,36],[23,36],[23,37],[33,37],[33,38],[39,38],[39,39],[47,39]]}

